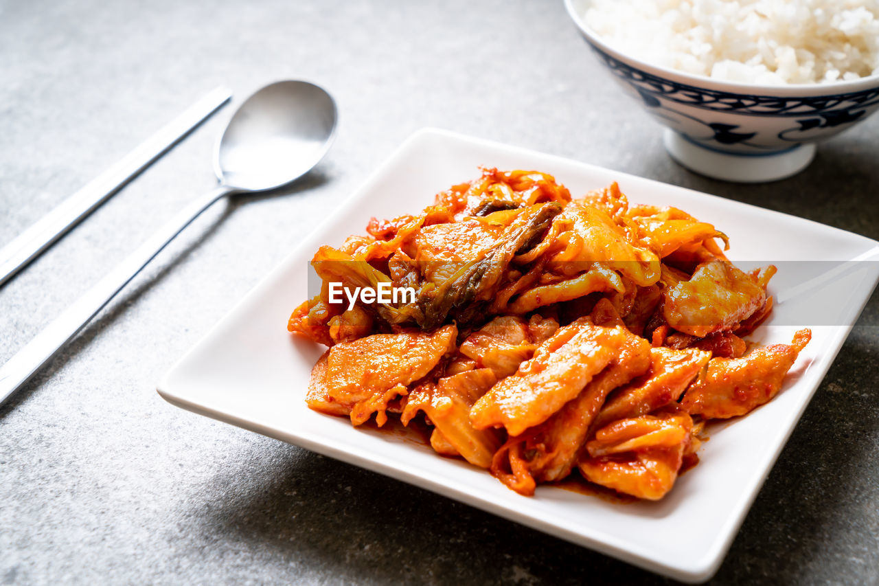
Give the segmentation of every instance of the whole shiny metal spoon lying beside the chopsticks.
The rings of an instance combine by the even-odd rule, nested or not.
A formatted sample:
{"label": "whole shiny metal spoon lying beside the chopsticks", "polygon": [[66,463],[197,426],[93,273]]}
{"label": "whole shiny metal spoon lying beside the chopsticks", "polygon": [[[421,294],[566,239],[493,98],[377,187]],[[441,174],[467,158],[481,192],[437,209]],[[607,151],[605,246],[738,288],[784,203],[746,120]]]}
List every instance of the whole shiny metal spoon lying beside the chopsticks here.
{"label": "whole shiny metal spoon lying beside the chopsticks", "polygon": [[201,212],[229,194],[268,191],[299,179],[326,154],[336,131],[336,104],[315,84],[266,85],[238,108],[217,142],[220,186],[164,224],[113,272],[89,289],[0,368],[0,404],[141,272]]}

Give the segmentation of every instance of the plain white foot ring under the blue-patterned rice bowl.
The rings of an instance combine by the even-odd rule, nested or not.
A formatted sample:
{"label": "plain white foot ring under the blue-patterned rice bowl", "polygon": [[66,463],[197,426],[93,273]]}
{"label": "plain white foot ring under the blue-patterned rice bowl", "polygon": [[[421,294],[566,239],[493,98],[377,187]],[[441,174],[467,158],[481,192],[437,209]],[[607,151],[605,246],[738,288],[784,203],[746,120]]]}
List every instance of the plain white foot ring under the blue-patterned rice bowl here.
{"label": "plain white foot ring under the blue-patterned rice bowl", "polygon": [[760,183],[785,179],[803,171],[815,157],[815,145],[800,144],[779,153],[734,155],[710,150],[665,129],[665,149],[687,169],[714,179]]}

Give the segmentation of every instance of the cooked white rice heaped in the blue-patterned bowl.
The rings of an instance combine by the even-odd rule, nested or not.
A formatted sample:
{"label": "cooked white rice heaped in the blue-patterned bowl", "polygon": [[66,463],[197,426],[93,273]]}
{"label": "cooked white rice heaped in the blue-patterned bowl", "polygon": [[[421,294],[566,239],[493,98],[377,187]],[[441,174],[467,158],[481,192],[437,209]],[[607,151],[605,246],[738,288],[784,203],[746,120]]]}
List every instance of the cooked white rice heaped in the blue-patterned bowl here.
{"label": "cooked white rice heaped in the blue-patterned bowl", "polygon": [[749,84],[879,74],[879,0],[592,0],[585,22],[624,55]]}

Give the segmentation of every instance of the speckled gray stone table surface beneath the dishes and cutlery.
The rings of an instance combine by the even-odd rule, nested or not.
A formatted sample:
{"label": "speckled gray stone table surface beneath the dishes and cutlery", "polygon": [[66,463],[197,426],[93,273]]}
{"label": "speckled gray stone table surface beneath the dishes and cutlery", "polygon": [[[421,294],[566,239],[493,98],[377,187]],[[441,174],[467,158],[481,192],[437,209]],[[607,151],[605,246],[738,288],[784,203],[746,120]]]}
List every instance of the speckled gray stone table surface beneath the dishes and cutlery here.
{"label": "speckled gray stone table surface beneath the dishes and cutlery", "polygon": [[[705,179],[666,155],[660,128],[556,0],[0,0],[0,73],[0,245],[216,85],[240,102],[276,79],[311,79],[341,114],[308,179],[211,209],[0,408],[2,583],[665,582],[156,394],[163,372],[418,128],[879,238],[879,116],[821,145],[792,179]],[[0,289],[0,361],[213,187],[230,110]],[[874,295],[716,583],[879,583],[877,342]]]}

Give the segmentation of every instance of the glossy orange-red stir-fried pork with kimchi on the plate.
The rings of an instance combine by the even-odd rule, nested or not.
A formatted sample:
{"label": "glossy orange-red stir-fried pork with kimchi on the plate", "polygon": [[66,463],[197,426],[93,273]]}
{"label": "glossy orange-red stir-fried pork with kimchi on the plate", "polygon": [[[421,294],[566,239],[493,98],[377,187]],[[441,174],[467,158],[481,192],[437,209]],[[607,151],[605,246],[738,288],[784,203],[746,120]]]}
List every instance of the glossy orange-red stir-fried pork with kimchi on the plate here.
{"label": "glossy orange-red stir-fried pork with kimchi on the plate", "polygon": [[[578,473],[661,499],[704,422],[772,399],[810,341],[804,329],[748,351],[775,267],[745,273],[727,246],[615,183],[574,199],[545,173],[485,169],[317,251],[323,287],[288,324],[329,347],[306,400],[354,425],[422,418],[434,450],[520,494]],[[331,285],[414,298],[350,301]]]}

